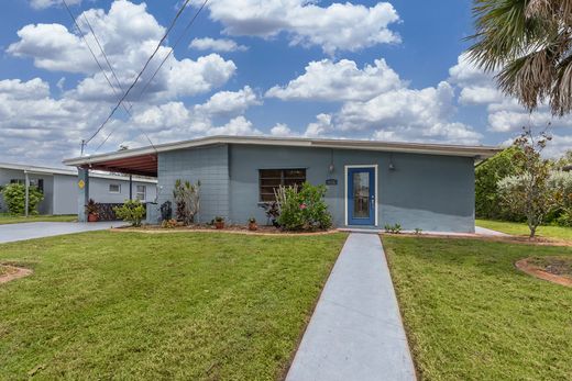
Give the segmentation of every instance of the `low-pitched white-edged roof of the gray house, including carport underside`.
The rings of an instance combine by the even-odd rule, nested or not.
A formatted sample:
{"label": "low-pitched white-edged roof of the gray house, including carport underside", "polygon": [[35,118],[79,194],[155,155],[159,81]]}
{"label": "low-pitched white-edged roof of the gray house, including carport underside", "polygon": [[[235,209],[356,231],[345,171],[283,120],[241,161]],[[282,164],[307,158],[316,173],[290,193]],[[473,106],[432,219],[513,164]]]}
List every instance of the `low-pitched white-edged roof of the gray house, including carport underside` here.
{"label": "low-pitched white-edged roof of the gray house, including carport underside", "polygon": [[475,159],[485,159],[502,150],[502,148],[492,146],[464,146],[452,144],[222,135],[184,142],[166,143],[141,148],[123,149],[101,155],[76,157],[65,159],[64,164],[81,168],[156,177],[158,153],[202,147],[217,144],[360,149],[444,156],[463,156],[473,157]]}

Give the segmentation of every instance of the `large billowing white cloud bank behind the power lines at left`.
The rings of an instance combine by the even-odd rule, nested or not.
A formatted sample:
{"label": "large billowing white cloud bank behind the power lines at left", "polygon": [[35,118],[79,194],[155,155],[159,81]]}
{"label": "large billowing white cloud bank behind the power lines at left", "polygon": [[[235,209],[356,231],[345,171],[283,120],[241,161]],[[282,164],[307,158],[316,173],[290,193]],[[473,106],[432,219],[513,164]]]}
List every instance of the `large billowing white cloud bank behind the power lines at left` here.
{"label": "large billowing white cloud bank behind the power lines at left", "polygon": [[[121,86],[127,89],[156,46],[164,27],[147,13],[144,3],[114,1],[107,12],[91,9],[84,14],[105,46]],[[84,15],[78,21],[82,22]],[[84,24],[81,27],[88,30]],[[99,52],[95,41],[88,41],[95,52]],[[168,46],[160,48],[146,77],[133,89],[131,102],[138,99],[142,85],[167,52]],[[0,80],[2,160],[57,165],[64,157],[78,155],[79,142],[101,125],[110,112],[109,102],[118,99],[79,35],[59,24],[26,25],[19,31],[19,40],[10,45],[8,53],[32,58],[37,68],[79,74],[80,78],[77,86],[66,86],[66,90],[67,83],[59,76],[62,80],[54,83],[53,89],[58,97],[52,96],[50,85],[40,78]],[[196,59],[169,58],[151,83],[146,97],[134,104],[133,116],[118,112],[90,142],[87,153],[94,153],[110,133],[112,135],[100,153],[123,143],[148,144],[142,132],[154,143],[162,143],[204,136],[212,128],[228,133],[249,131],[250,122],[238,116],[260,102],[260,97],[250,87],[215,94],[197,110],[180,101],[180,98],[223,86],[235,71],[234,63],[218,54]],[[107,75],[114,81],[110,71]],[[233,120],[229,121],[231,117]],[[250,131],[257,132],[252,124]]]}

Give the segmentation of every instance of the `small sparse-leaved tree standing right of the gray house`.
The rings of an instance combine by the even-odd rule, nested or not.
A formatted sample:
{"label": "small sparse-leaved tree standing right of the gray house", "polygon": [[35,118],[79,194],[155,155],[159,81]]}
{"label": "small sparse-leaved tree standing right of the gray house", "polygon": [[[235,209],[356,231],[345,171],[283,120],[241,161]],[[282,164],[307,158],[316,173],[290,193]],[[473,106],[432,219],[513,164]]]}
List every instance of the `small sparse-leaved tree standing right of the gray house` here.
{"label": "small sparse-leaved tree standing right of the gray house", "polygon": [[514,213],[526,216],[530,238],[547,213],[554,206],[557,195],[549,186],[550,161],[541,157],[551,137],[542,132],[537,138],[530,128],[515,139],[519,152],[514,156],[517,176],[509,176],[498,182],[503,204]]}

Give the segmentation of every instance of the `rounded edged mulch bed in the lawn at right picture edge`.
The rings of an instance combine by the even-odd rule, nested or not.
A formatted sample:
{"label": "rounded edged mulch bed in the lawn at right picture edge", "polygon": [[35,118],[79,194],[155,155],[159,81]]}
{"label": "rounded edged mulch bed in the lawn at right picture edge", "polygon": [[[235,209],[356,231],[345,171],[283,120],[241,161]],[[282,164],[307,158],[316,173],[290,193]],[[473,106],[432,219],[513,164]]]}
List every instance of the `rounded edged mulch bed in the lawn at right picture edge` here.
{"label": "rounded edged mulch bed in the lawn at right picture edge", "polygon": [[572,258],[541,257],[525,258],[516,264],[516,268],[549,282],[572,287]]}

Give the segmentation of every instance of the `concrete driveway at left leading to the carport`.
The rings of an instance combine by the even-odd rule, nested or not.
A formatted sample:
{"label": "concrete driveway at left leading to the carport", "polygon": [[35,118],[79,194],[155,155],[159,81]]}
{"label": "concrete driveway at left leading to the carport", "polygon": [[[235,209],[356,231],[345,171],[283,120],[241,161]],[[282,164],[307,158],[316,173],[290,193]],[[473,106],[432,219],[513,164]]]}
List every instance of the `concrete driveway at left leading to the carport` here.
{"label": "concrete driveway at left leading to the carport", "polygon": [[124,225],[123,222],[96,222],[96,223],[78,223],[78,222],[26,222],[22,224],[0,225],[0,244],[52,237],[56,235],[105,231],[112,226]]}

